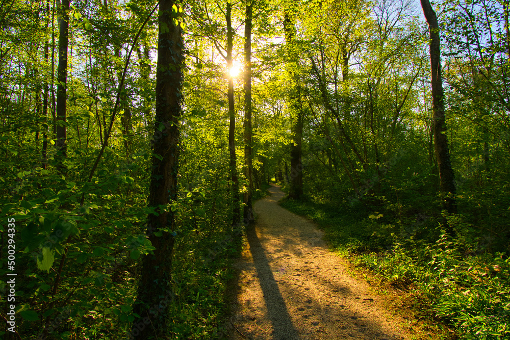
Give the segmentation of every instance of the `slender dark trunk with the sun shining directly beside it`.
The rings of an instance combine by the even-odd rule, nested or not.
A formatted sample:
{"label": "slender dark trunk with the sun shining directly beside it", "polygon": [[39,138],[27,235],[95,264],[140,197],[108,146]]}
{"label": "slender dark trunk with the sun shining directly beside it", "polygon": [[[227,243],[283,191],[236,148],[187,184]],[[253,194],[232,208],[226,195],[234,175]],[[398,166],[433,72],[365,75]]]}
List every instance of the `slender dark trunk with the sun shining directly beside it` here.
{"label": "slender dark trunk with the sun shining directly beside it", "polygon": [[[234,30],[232,29],[232,3],[226,3],[226,27],[227,27],[227,51],[226,63],[228,69],[232,69],[232,50],[234,49]],[[232,201],[234,208],[232,212],[232,226],[239,223],[241,212],[239,208],[239,180],[237,178],[236,162],[236,108],[234,103],[234,77],[228,78],[228,113],[230,115],[230,126],[228,127],[228,150],[230,151],[230,173],[232,180]]]}

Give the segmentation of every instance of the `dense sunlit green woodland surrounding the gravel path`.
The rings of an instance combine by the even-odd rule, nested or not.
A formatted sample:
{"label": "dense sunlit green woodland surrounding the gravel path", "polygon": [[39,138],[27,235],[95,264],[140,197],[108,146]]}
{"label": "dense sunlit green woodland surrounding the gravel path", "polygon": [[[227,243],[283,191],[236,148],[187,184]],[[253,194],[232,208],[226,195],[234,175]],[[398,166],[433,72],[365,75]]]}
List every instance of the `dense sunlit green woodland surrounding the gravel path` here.
{"label": "dense sunlit green woodland surrounding the gravel path", "polygon": [[[7,217],[18,274],[17,333],[2,327],[3,338],[133,336],[158,258],[146,254],[164,247],[170,262],[152,267],[171,267],[157,282],[168,294],[154,297],[158,338],[224,337],[230,264],[270,181],[381,290],[413,292],[419,315],[450,329],[442,336],[510,337],[507,0],[432,4],[449,197],[417,1],[160,7],[0,1],[6,307]],[[165,80],[167,121],[157,118]],[[170,155],[158,149],[168,136]],[[170,189],[154,184],[167,161]],[[162,216],[167,225],[147,227]]]}

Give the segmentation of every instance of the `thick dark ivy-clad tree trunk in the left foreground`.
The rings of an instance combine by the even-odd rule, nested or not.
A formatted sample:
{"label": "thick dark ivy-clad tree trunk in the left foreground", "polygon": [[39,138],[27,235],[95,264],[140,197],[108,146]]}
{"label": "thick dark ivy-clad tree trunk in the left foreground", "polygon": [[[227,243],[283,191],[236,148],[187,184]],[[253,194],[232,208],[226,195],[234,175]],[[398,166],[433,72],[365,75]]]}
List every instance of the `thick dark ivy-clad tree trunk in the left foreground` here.
{"label": "thick dark ivy-clad tree trunk in the left foreground", "polygon": [[148,199],[148,205],[154,207],[157,214],[147,216],[147,236],[156,249],[143,257],[133,308],[139,318],[135,319],[131,334],[137,339],[168,336],[168,304],[173,298],[171,268],[175,213],[166,207],[177,199],[181,69],[184,63],[182,31],[173,23],[174,4],[174,0],[161,0],[159,5],[156,117],[152,139],[155,156],[152,157]]}

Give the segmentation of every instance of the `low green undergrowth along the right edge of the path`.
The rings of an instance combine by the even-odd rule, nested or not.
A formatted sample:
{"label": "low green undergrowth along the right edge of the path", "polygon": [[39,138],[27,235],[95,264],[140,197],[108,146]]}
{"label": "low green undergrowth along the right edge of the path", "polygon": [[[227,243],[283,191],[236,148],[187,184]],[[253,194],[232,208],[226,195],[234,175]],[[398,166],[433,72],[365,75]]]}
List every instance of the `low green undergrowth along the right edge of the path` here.
{"label": "low green undergrowth along the right edge of the path", "polygon": [[412,291],[421,314],[455,328],[458,338],[510,338],[510,259],[504,242],[488,244],[490,236],[462,215],[445,216],[455,230],[451,237],[438,223],[441,216],[392,205],[384,197],[349,204],[308,196],[282,206],[318,223],[330,246],[354,265]]}

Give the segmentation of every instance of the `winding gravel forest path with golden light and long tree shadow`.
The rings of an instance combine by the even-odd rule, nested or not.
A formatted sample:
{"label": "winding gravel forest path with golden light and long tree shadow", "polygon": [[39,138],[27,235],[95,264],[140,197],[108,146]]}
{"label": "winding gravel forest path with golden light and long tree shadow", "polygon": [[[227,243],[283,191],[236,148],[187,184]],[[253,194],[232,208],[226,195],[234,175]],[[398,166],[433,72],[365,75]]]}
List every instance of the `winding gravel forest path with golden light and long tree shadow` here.
{"label": "winding gravel forest path with golden light and long tree shadow", "polygon": [[279,187],[254,204],[257,223],[235,264],[230,339],[407,339],[366,281],[348,274],[323,232],[277,202]]}

